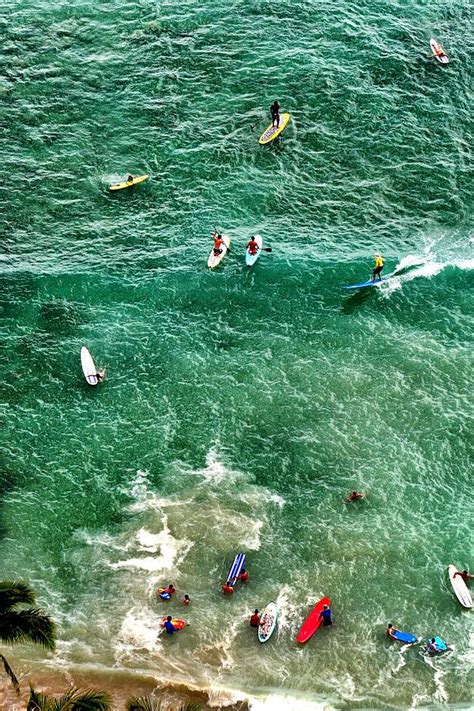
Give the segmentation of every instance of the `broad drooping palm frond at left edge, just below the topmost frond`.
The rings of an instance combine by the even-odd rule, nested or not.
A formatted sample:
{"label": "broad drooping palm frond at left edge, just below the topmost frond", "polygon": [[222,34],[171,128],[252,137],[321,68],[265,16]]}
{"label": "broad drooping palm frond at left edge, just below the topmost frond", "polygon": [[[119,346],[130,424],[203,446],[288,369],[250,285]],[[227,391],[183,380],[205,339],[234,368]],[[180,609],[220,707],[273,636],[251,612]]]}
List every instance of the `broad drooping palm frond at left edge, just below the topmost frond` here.
{"label": "broad drooping palm frond at left edge, just below the topmost frond", "polygon": [[9,610],[0,614],[0,639],[4,642],[34,642],[54,649],[56,626],[42,610]]}

